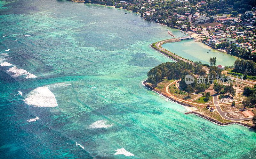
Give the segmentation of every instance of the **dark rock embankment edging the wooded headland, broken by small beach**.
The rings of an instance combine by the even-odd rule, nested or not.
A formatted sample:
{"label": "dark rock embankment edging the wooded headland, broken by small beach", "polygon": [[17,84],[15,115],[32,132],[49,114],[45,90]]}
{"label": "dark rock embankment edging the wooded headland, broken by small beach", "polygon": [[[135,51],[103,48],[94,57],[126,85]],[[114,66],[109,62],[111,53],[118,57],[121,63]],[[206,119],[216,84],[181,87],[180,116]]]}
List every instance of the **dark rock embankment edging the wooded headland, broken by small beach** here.
{"label": "dark rock embankment edging the wooded headland, broken by small beach", "polygon": [[[157,93],[163,95],[164,97],[166,97],[166,98],[168,98],[168,99],[170,99],[170,100],[172,100],[172,101],[174,101],[174,102],[176,102],[176,103],[179,103],[180,105],[184,105],[184,106],[188,106],[188,107],[196,107],[196,106],[194,106],[194,105],[190,105],[190,104],[188,104],[188,103],[180,102],[180,101],[178,101],[178,100],[176,100],[176,99],[173,99],[173,98],[169,97],[168,95],[164,94],[163,92],[161,92],[161,91],[155,89],[154,86],[149,85],[146,81],[144,81],[143,84],[144,84],[146,87],[148,87],[150,90],[153,90],[153,91],[155,91],[155,92],[157,92]],[[201,113],[195,112],[195,111],[185,112],[185,114],[195,114],[195,115],[197,115],[197,116],[200,116],[200,117],[202,117],[202,118],[204,118],[204,119],[207,119],[207,120],[209,120],[209,121],[211,121],[211,122],[213,122],[213,123],[215,123],[215,124],[217,124],[217,125],[220,125],[220,126],[227,126],[227,125],[232,125],[232,124],[239,124],[239,125],[243,125],[243,126],[246,126],[246,127],[249,127],[249,128],[254,128],[254,127],[251,126],[251,125],[248,125],[248,124],[245,124],[245,123],[241,123],[241,122],[235,122],[235,121],[231,121],[231,122],[228,122],[228,123],[222,123],[222,122],[220,122],[220,121],[218,121],[218,120],[216,120],[216,119],[207,117],[207,116],[205,116],[204,114],[201,114]]]}

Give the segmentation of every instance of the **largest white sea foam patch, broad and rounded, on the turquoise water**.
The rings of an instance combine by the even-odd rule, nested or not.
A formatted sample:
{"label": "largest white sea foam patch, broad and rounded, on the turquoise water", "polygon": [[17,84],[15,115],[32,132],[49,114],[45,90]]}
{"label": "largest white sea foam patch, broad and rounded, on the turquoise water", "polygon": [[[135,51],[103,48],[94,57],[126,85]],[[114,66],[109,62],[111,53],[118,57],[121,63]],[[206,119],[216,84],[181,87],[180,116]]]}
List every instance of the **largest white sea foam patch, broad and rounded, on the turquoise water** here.
{"label": "largest white sea foam patch, broad and rounded, on the turquoise water", "polygon": [[58,106],[57,100],[54,94],[48,89],[48,87],[38,87],[28,93],[28,97],[25,98],[25,102],[31,106],[38,107],[55,107]]}

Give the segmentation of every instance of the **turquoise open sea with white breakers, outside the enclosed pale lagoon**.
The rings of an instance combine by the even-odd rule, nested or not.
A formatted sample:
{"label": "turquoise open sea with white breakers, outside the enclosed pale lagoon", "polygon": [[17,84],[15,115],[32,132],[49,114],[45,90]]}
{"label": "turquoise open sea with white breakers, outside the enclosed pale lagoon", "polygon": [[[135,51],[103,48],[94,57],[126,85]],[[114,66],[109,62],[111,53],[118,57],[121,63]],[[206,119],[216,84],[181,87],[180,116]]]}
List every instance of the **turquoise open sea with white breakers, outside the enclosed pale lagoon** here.
{"label": "turquoise open sea with white breakers, outside the enclosed pale lagoon", "polygon": [[141,84],[170,61],[150,44],[179,30],[100,5],[0,5],[1,158],[255,157],[255,131],[185,115]]}

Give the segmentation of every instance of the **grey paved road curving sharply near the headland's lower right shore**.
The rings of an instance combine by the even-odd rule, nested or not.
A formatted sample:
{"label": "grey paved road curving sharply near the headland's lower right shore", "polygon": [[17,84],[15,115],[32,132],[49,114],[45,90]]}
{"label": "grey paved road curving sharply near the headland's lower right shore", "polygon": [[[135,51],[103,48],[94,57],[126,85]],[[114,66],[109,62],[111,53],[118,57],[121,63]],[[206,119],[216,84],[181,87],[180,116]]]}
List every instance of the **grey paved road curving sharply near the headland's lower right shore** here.
{"label": "grey paved road curving sharply near the headland's lower right shore", "polygon": [[[240,111],[223,112],[222,109],[220,108],[220,105],[219,105],[219,102],[218,102],[218,95],[213,96],[213,104],[214,104],[216,110],[218,111],[218,113],[220,114],[220,116],[222,118],[224,118],[224,119],[231,120],[231,121],[244,121],[244,120],[251,120],[252,119],[252,118],[233,119],[233,118],[227,117],[226,116],[227,113],[230,113],[230,112],[240,112]],[[252,109],[254,109],[254,108],[252,108]],[[251,110],[251,109],[247,109],[247,110]]]}

